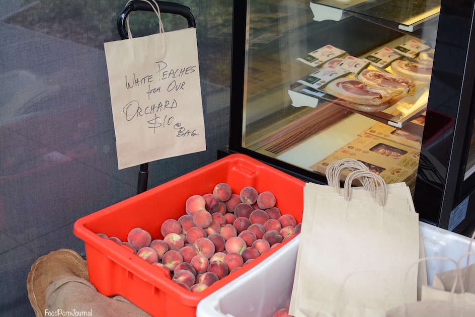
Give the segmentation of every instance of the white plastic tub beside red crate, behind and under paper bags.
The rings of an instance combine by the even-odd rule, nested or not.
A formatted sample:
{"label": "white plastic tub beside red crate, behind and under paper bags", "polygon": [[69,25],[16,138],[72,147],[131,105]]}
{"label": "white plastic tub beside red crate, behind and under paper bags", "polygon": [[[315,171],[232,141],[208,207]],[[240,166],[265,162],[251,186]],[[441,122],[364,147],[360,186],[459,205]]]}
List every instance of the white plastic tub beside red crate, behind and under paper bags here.
{"label": "white plastic tub beside red crate, behind and under paper bags", "polygon": [[[424,222],[420,222],[419,226],[426,257],[458,260],[468,251],[468,237]],[[197,317],[271,317],[277,309],[288,307],[298,242],[299,236],[296,236],[253,270],[202,299],[196,309]],[[475,243],[472,248],[475,248]],[[432,284],[434,274],[453,269],[449,261],[427,261],[429,284]]]}

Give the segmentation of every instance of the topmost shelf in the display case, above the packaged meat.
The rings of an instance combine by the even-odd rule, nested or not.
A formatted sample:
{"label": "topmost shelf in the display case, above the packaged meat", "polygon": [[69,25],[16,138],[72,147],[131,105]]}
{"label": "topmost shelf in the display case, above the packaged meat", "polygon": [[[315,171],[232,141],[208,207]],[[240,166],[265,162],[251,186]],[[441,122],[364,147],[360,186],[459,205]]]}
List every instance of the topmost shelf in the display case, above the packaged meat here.
{"label": "topmost shelf in the display case, above the packaged meat", "polygon": [[356,16],[388,28],[414,32],[439,17],[440,0],[311,0],[315,21]]}

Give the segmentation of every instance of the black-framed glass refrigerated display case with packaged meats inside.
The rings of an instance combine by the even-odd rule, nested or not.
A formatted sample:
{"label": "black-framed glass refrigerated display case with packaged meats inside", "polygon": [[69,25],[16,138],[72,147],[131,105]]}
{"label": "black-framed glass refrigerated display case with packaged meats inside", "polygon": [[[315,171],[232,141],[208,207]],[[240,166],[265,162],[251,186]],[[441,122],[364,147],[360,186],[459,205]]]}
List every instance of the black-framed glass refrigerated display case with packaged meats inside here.
{"label": "black-framed glass refrigerated display case with packaged meats inside", "polygon": [[300,179],[353,157],[421,220],[475,221],[473,1],[233,2],[229,152]]}

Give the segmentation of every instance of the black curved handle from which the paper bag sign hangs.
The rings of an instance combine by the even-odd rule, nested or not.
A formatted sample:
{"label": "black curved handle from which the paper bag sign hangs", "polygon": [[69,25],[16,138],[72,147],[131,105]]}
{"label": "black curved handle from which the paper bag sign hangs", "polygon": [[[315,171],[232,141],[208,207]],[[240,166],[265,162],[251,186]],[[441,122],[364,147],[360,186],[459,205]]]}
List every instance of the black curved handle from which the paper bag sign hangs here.
{"label": "black curved handle from which the paper bag sign hangs", "polygon": [[155,4],[152,3],[153,7],[150,4],[143,2],[142,0],[132,0],[125,5],[125,7],[120,11],[119,17],[117,18],[117,30],[119,31],[120,38],[125,40],[128,39],[128,32],[127,32],[127,16],[132,11],[150,11],[155,12],[159,11],[163,13],[171,13],[171,14],[178,14],[182,17],[186,18],[188,21],[189,28],[195,28],[195,18],[191,14],[190,8],[180,5],[173,2],[167,1],[156,1],[158,8],[156,8]]}

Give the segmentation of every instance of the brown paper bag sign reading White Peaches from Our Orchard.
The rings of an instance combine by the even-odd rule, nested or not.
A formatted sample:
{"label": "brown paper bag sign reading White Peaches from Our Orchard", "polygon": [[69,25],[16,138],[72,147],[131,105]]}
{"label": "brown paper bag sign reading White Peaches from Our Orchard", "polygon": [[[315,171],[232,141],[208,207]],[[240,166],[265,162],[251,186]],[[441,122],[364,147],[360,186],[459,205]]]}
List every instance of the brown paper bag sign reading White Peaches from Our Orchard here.
{"label": "brown paper bag sign reading White Peaches from Our Orchard", "polygon": [[206,150],[195,28],[104,50],[119,170]]}

